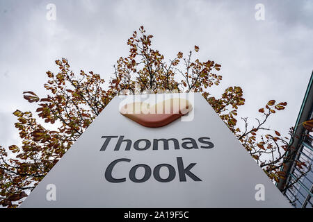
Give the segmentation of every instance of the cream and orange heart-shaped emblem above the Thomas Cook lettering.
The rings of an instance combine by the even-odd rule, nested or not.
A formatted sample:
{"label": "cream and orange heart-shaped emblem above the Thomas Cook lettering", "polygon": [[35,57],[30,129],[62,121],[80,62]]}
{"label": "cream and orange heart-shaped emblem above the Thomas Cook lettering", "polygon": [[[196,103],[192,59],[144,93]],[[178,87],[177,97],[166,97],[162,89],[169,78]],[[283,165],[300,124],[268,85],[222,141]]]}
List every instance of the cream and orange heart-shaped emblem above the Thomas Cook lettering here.
{"label": "cream and orange heart-shaped emblem above the Thomas Cook lettering", "polygon": [[175,98],[154,105],[145,102],[128,103],[120,108],[120,113],[142,126],[157,128],[168,125],[192,109],[188,100]]}

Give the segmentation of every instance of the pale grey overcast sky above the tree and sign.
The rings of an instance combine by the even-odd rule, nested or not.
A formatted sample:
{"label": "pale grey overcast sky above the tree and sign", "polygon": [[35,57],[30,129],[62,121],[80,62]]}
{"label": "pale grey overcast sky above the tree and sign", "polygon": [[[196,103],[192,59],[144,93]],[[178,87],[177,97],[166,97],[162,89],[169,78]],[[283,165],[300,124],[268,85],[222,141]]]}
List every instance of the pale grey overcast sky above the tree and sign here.
{"label": "pale grey overcast sky above the tree and sign", "polygon": [[[56,20],[46,18],[47,4]],[[256,20],[255,5],[264,5]],[[13,1],[0,0],[0,145],[20,144],[16,109],[33,110],[22,92],[45,96],[45,72],[67,58],[74,72],[109,79],[127,38],[139,26],[166,58],[200,46],[200,60],[214,60],[223,80],[243,88],[241,116],[259,117],[270,99],[287,101],[268,126],[287,133],[294,126],[313,69],[313,1]]]}

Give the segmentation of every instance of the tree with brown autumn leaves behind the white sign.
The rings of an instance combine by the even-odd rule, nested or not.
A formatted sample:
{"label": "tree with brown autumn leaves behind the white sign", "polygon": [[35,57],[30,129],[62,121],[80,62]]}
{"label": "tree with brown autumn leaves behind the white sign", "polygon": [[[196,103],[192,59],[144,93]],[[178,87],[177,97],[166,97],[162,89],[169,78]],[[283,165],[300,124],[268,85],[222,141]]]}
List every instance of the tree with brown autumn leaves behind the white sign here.
{"label": "tree with brown autumn leaves behind the white sign", "polygon": [[[26,196],[25,191],[38,185],[111,99],[126,91],[131,94],[145,90],[153,93],[159,90],[201,92],[268,177],[276,182],[284,178],[280,168],[291,161],[289,153],[293,148],[287,137],[266,128],[265,123],[275,112],[284,110],[287,103],[268,101],[259,109],[262,118],[257,119],[255,126],[250,126],[248,119],[243,118],[245,128],[239,129],[236,127],[237,110],[245,103],[241,87],[227,87],[216,99],[209,94],[209,88],[219,85],[222,80],[222,76],[215,74],[220,71],[218,63],[193,60],[193,54],[199,51],[198,46],[185,57],[178,52],[175,58],[166,61],[158,50],[152,49],[152,37],[145,34],[143,26],[138,33],[134,31],[127,41],[129,56],[118,59],[108,87],[93,71],[85,73],[81,70],[78,75],[74,74],[67,59],[62,58],[56,60],[58,74],[47,71],[47,96],[24,92],[24,99],[35,103],[38,117],[57,129],[42,126],[31,112],[13,112],[23,145],[9,146],[9,151],[0,146],[0,205],[17,207]],[[292,128],[290,135],[294,136]],[[8,152],[15,156],[9,157]],[[267,157],[263,158],[264,155]],[[298,166],[306,167],[303,162]]]}

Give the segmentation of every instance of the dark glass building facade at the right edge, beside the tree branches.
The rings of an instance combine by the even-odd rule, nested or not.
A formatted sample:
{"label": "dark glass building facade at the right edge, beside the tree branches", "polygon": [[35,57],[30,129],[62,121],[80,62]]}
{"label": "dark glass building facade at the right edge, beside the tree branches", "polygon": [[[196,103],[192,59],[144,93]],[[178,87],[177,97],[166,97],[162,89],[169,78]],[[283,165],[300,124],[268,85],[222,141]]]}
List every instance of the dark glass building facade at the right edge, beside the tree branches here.
{"label": "dark glass building facade at the right edge, beside the tree branches", "polygon": [[[298,114],[294,139],[291,147],[295,148],[292,162],[287,163],[282,171],[287,173],[284,180],[277,186],[296,208],[313,207],[313,132],[303,127],[303,122],[313,119],[313,73],[305,92],[305,97]],[[305,162],[306,166],[299,166],[297,161]],[[305,174],[303,172],[306,172]],[[298,179],[300,178],[300,179]],[[288,187],[288,188],[287,188]]]}

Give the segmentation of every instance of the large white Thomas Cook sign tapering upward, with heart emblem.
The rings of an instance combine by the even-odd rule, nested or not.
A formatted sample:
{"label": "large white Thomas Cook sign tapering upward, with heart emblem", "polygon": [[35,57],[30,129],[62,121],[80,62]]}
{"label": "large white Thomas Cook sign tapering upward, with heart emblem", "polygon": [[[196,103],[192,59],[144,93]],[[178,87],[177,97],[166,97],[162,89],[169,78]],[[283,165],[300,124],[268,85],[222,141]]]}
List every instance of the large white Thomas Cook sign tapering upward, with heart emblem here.
{"label": "large white Thomas Cook sign tapering upward, with heart emblem", "polygon": [[201,94],[150,94],[116,96],[22,207],[289,203]]}

